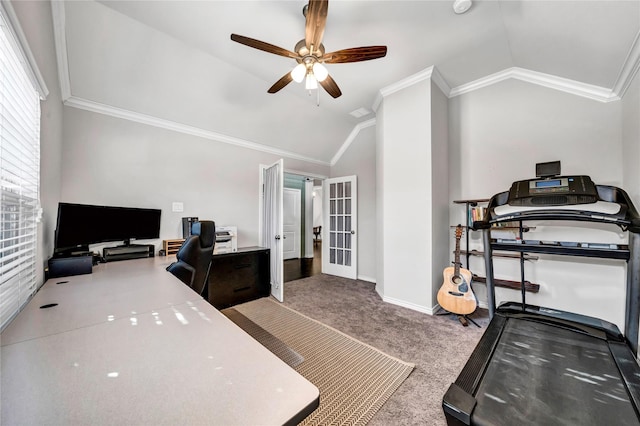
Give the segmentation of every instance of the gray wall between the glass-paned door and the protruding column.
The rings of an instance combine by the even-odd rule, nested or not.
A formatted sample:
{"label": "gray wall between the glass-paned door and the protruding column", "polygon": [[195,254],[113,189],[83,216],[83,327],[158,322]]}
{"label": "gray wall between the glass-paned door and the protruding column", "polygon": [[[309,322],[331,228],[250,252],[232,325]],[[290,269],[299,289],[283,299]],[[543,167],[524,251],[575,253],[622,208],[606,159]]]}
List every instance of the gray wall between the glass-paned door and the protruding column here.
{"label": "gray wall between the glass-paned door and the protruding column", "polygon": [[376,281],[375,126],[362,129],[331,167],[331,177],[358,176],[358,278]]}

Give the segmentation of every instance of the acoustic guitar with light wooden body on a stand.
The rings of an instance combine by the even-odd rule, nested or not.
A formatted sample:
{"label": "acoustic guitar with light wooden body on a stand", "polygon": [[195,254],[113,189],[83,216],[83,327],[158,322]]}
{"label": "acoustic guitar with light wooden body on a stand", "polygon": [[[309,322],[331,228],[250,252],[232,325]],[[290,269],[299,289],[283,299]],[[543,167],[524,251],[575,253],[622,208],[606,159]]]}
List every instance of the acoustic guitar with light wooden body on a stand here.
{"label": "acoustic guitar with light wooden body on a stand", "polygon": [[476,310],[478,303],[471,290],[471,272],[460,267],[460,237],[462,225],[456,227],[456,251],[453,266],[444,269],[444,282],[438,291],[438,303],[443,309],[458,315]]}

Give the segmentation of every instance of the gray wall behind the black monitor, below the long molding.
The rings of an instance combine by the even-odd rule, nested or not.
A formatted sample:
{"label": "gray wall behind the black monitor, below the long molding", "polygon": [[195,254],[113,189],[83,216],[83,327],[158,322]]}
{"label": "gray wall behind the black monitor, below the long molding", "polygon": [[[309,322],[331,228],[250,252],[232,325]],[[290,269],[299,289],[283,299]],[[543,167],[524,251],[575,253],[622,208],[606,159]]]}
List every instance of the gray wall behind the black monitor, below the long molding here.
{"label": "gray wall behind the black monitor, below the long molding", "polygon": [[[258,244],[259,169],[277,156],[75,108],[64,112],[62,201],[162,209],[160,240],[181,238],[181,218],[197,216],[236,225],[238,246]],[[284,164],[329,174],[325,166]],[[184,211],[172,212],[173,202]]]}

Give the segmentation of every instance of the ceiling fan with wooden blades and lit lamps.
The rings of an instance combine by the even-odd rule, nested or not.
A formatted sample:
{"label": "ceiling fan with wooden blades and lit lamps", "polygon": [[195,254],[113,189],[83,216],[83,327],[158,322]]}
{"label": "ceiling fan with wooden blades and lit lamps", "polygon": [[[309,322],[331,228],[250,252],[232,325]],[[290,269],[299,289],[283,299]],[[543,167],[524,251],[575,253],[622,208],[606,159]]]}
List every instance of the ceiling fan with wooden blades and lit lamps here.
{"label": "ceiling fan with wooden blades and lit lamps", "polygon": [[275,55],[292,58],[298,62],[298,65],[291,72],[283,75],[280,80],[269,88],[269,93],[278,92],[291,81],[301,83],[302,80],[306,80],[306,89],[317,89],[318,83],[320,83],[327,93],[337,98],[342,95],[342,92],[323,64],[369,61],[382,58],[387,54],[387,46],[353,47],[325,53],[322,36],[327,23],[328,10],[328,0],[309,0],[309,4],[304,6],[302,13],[306,18],[305,37],[296,43],[294,52],[253,38],[231,34],[231,40],[235,42]]}

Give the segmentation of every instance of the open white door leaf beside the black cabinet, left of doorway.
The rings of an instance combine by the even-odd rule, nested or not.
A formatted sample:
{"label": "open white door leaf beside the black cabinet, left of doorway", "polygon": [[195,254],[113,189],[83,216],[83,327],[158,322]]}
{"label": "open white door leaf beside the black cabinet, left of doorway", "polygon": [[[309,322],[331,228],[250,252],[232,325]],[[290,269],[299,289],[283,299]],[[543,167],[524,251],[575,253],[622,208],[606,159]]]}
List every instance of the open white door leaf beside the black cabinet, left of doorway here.
{"label": "open white door leaf beside the black cabinet, left of doorway", "polygon": [[282,190],[284,161],[279,160],[262,168],[260,183],[262,188],[260,216],[260,245],[269,248],[271,263],[271,295],[284,300],[282,265]]}

